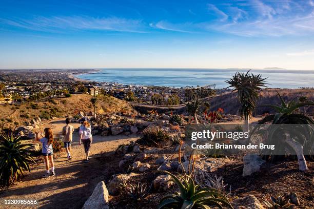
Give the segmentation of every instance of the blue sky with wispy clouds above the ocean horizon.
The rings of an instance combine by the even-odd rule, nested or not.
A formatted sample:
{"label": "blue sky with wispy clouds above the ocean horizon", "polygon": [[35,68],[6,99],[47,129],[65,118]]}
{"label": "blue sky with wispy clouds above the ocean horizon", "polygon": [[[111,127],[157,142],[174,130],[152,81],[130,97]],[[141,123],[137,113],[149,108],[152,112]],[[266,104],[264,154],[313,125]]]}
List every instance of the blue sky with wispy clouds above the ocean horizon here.
{"label": "blue sky with wispy clouds above the ocean horizon", "polygon": [[0,2],[0,69],[314,69],[314,0]]}

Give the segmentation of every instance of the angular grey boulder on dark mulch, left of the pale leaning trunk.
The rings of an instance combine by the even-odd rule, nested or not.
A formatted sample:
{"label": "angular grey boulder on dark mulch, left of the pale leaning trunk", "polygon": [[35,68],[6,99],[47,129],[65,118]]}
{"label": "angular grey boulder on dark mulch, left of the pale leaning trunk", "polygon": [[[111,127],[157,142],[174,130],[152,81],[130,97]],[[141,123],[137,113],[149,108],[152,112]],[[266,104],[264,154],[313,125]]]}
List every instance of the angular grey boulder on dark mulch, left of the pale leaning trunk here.
{"label": "angular grey boulder on dark mulch, left of the pale leaning trunk", "polygon": [[259,172],[261,167],[266,163],[259,155],[246,155],[243,157],[242,176],[249,176],[252,173]]}

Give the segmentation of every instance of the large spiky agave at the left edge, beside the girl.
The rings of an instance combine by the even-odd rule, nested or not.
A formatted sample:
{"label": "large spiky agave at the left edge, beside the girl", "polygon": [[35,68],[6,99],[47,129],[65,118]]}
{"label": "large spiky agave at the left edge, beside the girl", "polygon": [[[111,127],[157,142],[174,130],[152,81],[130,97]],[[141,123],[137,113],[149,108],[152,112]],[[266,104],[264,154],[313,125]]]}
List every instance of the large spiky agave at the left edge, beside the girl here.
{"label": "large spiky agave at the left edge, beside the girl", "polygon": [[13,134],[1,135],[0,140],[0,185],[9,186],[23,177],[23,171],[29,171],[30,155],[33,144]]}

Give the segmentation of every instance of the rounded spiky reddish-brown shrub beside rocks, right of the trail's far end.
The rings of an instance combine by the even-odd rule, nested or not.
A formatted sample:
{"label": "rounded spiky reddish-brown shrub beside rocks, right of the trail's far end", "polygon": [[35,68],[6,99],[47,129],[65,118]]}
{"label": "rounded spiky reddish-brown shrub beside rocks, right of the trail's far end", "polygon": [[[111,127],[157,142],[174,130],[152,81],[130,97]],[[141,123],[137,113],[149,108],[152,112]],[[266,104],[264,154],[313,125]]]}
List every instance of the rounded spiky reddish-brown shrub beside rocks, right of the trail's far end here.
{"label": "rounded spiky reddish-brown shrub beside rocks, right of the trail's far end", "polygon": [[159,127],[149,127],[143,131],[143,135],[136,142],[142,145],[158,145],[169,138],[169,135]]}

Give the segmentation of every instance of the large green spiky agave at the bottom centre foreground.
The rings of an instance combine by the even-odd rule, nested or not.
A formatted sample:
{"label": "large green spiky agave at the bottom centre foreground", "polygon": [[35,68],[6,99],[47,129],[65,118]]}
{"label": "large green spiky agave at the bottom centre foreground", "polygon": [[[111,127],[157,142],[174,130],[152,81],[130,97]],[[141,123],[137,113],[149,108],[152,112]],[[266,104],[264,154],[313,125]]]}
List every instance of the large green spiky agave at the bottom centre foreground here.
{"label": "large green spiky agave at the bottom centre foreground", "polygon": [[[229,200],[218,190],[211,188],[200,189],[199,185],[195,185],[190,176],[183,178],[181,182],[176,176],[166,172],[172,177],[172,180],[178,185],[179,192],[173,195],[165,196],[161,199],[159,209],[163,208],[205,208],[210,209],[211,206],[223,208],[222,205],[232,208]],[[222,204],[222,205],[221,205]]]}

